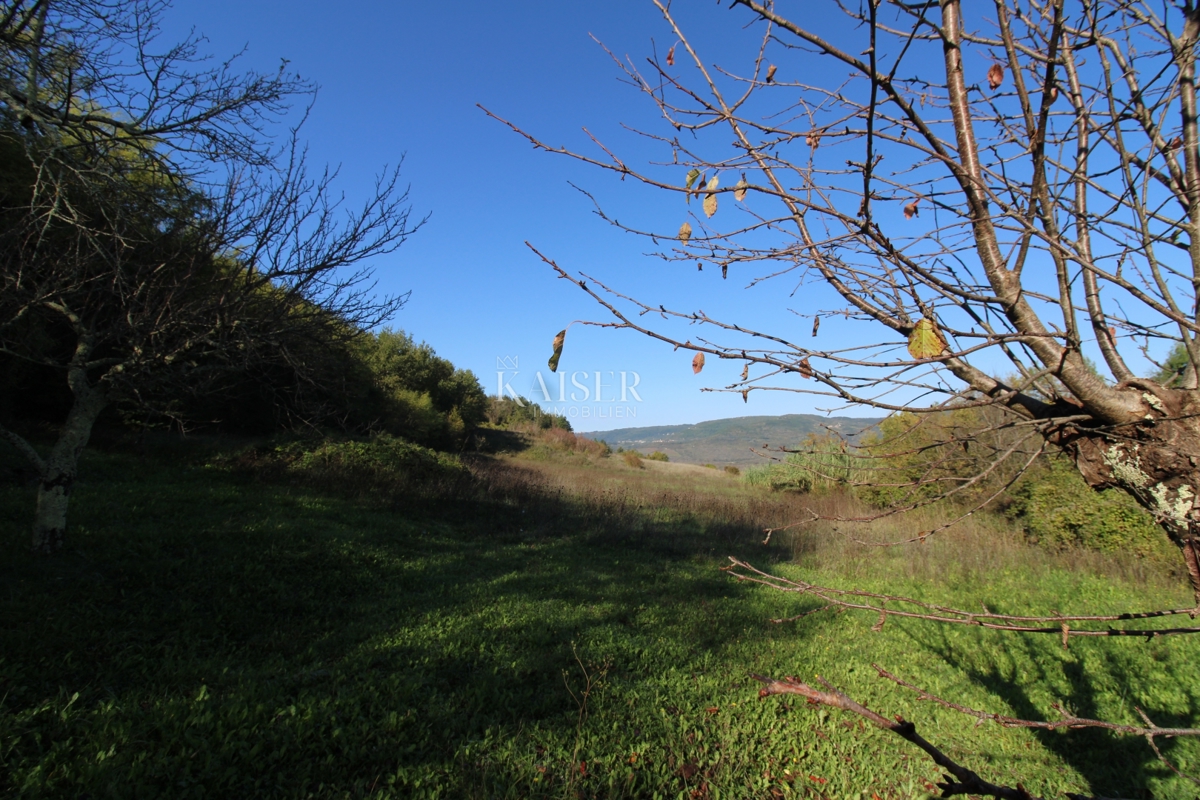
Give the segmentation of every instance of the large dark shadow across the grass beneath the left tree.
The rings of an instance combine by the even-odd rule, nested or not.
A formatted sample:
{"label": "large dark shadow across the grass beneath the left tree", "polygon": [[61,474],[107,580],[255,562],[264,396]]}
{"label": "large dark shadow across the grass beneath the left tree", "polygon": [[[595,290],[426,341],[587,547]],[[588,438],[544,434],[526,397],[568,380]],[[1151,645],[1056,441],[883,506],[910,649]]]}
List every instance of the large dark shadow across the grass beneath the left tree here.
{"label": "large dark shadow across the grass beneath the left tree", "polygon": [[[712,554],[776,553],[734,522],[580,506],[520,468],[372,506],[88,458],[60,557],[24,554],[32,495],[0,488],[0,793],[562,796],[533,781],[574,765],[578,668],[636,684],[762,636]],[[558,744],[488,760],[523,730]]]}

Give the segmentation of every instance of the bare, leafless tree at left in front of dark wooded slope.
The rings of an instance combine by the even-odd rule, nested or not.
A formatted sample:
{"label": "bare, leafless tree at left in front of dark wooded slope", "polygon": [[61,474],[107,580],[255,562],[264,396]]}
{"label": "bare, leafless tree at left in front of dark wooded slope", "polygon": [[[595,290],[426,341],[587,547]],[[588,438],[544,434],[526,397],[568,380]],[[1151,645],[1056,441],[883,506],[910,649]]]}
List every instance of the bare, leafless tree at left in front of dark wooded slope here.
{"label": "bare, leafless tree at left in front of dark wooded slope", "polygon": [[[269,126],[312,86],[161,48],[162,0],[0,4],[0,353],[58,368],[73,404],[38,474],[32,546],[62,546],[80,451],[114,402],[194,387],[335,341],[404,297],[364,259],[404,241],[398,168],[358,209],[310,178],[295,130]],[[419,223],[418,223],[419,224]]]}

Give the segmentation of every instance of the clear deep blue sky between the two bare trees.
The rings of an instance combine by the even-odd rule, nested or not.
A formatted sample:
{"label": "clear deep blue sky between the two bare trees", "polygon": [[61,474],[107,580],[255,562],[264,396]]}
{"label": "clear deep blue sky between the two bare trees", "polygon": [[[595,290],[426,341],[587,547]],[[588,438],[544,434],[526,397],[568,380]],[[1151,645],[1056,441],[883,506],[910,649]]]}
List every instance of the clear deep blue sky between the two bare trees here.
{"label": "clear deep blue sky between the two bare trees", "polygon": [[[833,2],[803,8],[809,23],[839,14]],[[761,29],[745,28],[749,12],[712,0],[676,2],[674,10],[689,35],[714,54],[708,61],[750,71]],[[752,276],[731,271],[722,282],[712,267],[697,272],[646,257],[649,242],[593,215],[589,200],[569,181],[642,229],[677,229],[686,211],[678,198],[534,151],[476,108],[481,103],[556,145],[588,149],[581,130],[587,127],[617,152],[644,161],[653,151],[620,124],[655,128],[656,112],[620,82],[622,73],[589,35],[640,65],[652,47],[665,53],[674,37],[648,0],[176,0],[166,22],[168,38],[194,28],[209,37],[208,50],[217,56],[246,47],[246,66],[274,70],[288,59],[290,68],[319,84],[305,128],[310,157],[317,166],[341,166],[341,188],[352,204],[370,191],[376,173],[406,158],[414,217],[431,217],[396,254],[373,265],[379,288],[412,290],[394,326],[475,372],[488,393],[497,391],[502,359],[503,366],[517,365],[520,374],[506,374],[516,391],[529,395],[538,371],[552,384],[546,359],[554,333],[575,319],[606,319],[577,287],[556,279],[526,240],[568,270],[589,272],[640,299],[704,309],[787,338],[804,341],[811,327],[810,319],[792,309],[844,305],[821,287],[806,285],[794,295],[792,283],[745,289]],[[850,341],[860,335],[856,325],[863,324],[826,319],[821,337],[826,343]],[[683,332],[689,335],[696,333]],[[834,405],[791,392],[756,392],[745,404],[739,395],[702,393],[703,386],[733,383],[742,363],[709,359],[701,375],[690,365],[690,353],[673,353],[635,332],[572,327],[560,372],[586,371],[592,385],[599,371],[618,391],[620,372],[638,373],[642,398],[623,404],[626,415],[632,408],[631,417],[617,417],[610,403],[605,413],[613,416],[574,419],[576,429],[814,413]],[[551,389],[557,392],[553,384]],[[593,415],[598,410],[594,402],[566,404],[590,407]]]}

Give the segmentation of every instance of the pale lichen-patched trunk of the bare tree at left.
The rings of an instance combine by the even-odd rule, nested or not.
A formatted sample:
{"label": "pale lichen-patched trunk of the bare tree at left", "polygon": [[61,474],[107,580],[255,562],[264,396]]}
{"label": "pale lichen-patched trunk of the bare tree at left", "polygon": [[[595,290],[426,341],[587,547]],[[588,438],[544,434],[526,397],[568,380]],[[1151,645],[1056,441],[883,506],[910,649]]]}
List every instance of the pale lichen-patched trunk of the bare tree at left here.
{"label": "pale lichen-patched trunk of the bare tree at left", "polygon": [[86,381],[73,381],[72,389],[76,396],[74,404],[59,432],[54,449],[43,462],[37,483],[32,541],[35,553],[54,553],[62,549],[66,543],[67,501],[74,486],[79,453],[88,445],[91,426],[107,404],[104,393],[88,386]]}

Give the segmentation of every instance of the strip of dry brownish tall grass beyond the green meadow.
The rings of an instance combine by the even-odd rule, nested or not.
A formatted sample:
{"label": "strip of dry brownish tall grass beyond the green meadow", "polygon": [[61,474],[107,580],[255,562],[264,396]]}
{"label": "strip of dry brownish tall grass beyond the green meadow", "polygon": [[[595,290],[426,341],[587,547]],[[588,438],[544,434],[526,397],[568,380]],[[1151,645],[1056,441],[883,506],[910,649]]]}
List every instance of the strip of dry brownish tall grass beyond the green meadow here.
{"label": "strip of dry brownish tall grass beyond the green meadow", "polygon": [[1172,565],[1085,549],[1052,552],[1030,545],[1018,525],[992,512],[971,515],[924,543],[882,547],[940,528],[961,512],[935,505],[871,522],[805,523],[814,512],[821,517],[871,518],[878,510],[846,492],[770,492],[742,481],[713,480],[707,474],[630,470],[616,458],[566,463],[518,456],[479,462],[473,473],[492,497],[584,509],[590,518],[602,522],[604,535],[612,537],[654,530],[670,540],[690,530],[703,531],[710,547],[739,548],[760,545],[768,529],[785,528],[772,535],[776,557],[836,571],[847,581],[881,575],[946,579],[952,573],[978,581],[1004,570],[1031,575],[1087,571],[1154,585],[1174,585],[1178,579]]}

